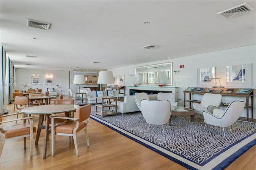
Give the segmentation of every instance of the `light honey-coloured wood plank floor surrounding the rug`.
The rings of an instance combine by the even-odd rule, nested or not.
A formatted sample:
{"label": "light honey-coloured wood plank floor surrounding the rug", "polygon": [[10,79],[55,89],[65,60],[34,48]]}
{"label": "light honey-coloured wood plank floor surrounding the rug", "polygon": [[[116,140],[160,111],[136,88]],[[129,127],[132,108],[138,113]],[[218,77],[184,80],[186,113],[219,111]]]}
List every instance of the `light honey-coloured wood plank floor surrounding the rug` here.
{"label": "light honey-coloured wood plank floor surrounding the rug", "polygon": [[[13,113],[13,105],[7,106]],[[15,110],[16,111],[16,110]],[[12,118],[14,119],[14,118]],[[34,125],[38,117],[34,119]],[[51,156],[51,139],[48,142],[47,158],[42,159],[44,130],[38,145],[34,144],[33,158],[30,158],[29,139],[27,149],[23,138],[6,141],[0,159],[1,170],[42,169],[88,169],[88,170],[165,170],[186,169],[160,154],[126,138],[100,123],[90,120],[88,124],[90,147],[86,146],[84,133],[78,135],[79,157],[76,157],[74,143],[68,144],[67,136],[56,136],[55,156]],[[34,138],[36,134],[34,133]],[[255,170],[256,145],[242,154],[227,170]]]}

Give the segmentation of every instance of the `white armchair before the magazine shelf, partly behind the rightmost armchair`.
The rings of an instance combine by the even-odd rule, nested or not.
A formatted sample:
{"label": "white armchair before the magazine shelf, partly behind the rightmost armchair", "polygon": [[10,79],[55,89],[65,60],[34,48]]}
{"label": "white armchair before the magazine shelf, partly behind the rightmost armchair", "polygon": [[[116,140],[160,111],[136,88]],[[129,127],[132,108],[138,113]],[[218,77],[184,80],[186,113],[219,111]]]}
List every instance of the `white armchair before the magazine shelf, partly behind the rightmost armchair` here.
{"label": "white armchair before the magazine shelf, partly behind the rightmost armchair", "polygon": [[222,95],[220,94],[204,94],[201,103],[193,103],[195,113],[203,114],[203,111],[213,112],[213,109],[220,107]]}

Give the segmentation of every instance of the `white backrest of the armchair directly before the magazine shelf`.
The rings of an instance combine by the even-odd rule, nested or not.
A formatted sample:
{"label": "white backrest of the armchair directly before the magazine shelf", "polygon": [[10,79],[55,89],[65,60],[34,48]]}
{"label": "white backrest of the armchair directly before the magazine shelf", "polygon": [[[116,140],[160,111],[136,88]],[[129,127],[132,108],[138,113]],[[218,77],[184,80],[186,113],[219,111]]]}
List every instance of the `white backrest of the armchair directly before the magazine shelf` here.
{"label": "white backrest of the armchair directly before the magazine shelf", "polygon": [[201,107],[215,106],[219,107],[222,100],[222,95],[220,94],[204,94],[202,101],[200,103]]}

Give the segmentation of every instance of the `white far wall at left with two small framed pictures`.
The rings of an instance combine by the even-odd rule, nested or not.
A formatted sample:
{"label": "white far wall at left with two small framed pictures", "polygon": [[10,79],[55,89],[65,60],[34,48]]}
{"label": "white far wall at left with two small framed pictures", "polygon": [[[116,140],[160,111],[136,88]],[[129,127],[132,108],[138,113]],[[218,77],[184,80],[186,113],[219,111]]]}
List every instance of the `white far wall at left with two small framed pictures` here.
{"label": "white far wall at left with two small framed pictures", "polygon": [[[40,75],[41,76],[41,84],[42,86],[26,86],[23,84],[31,84],[31,76],[32,75]],[[54,76],[54,83],[51,86],[44,85],[45,77],[47,75]],[[22,84],[22,86],[16,86],[15,89],[19,90],[27,90],[29,88],[38,88],[42,89],[42,93],[46,91],[47,88],[54,88],[57,94],[68,95],[69,89],[69,71],[58,71],[58,70],[40,70],[40,69],[16,69],[16,84]],[[56,88],[58,85],[58,88]]]}

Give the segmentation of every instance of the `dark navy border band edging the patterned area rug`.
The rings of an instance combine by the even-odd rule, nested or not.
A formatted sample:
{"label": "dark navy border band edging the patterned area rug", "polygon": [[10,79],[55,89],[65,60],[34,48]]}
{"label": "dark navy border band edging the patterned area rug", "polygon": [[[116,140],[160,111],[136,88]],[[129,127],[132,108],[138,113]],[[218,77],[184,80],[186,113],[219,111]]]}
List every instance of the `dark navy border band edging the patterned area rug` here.
{"label": "dark navy border band edging the patterned area rug", "polygon": [[[93,115],[93,116],[94,116],[94,115]],[[95,116],[95,117],[96,117],[96,116]],[[188,169],[190,169],[190,170],[197,170],[196,168],[194,168],[194,167],[192,167],[192,166],[190,166],[190,165],[188,165],[188,164],[186,164],[186,163],[184,163],[184,162],[182,162],[182,161],[180,161],[180,160],[178,160],[178,159],[176,159],[176,158],[173,158],[172,156],[170,156],[170,155],[168,155],[168,154],[165,154],[164,152],[162,152],[162,151],[160,151],[160,150],[158,150],[158,149],[156,149],[156,148],[154,148],[154,147],[152,147],[152,146],[150,146],[150,145],[148,145],[148,144],[145,144],[144,142],[141,142],[140,140],[137,140],[136,138],[133,138],[133,137],[129,136],[129,135],[127,135],[127,134],[121,132],[120,130],[117,130],[116,128],[113,128],[113,127],[111,127],[111,126],[109,126],[109,125],[103,123],[102,121],[105,121],[105,120],[103,120],[103,119],[98,118],[98,119],[100,119],[100,120],[102,120],[102,121],[98,121],[97,119],[95,119],[95,118],[93,118],[93,117],[91,117],[91,119],[93,119],[93,120],[95,120],[95,121],[101,123],[102,125],[105,125],[105,126],[108,127],[108,128],[111,128],[112,130],[114,130],[114,131],[116,131],[116,132],[118,132],[118,133],[120,133],[120,134],[126,136],[127,138],[130,138],[130,139],[134,140],[135,142],[138,142],[138,143],[142,144],[143,146],[145,146],[145,147],[147,147],[147,148],[149,148],[149,149],[151,149],[151,150],[157,152],[158,154],[161,154],[162,156],[165,156],[166,158],[168,158],[168,159],[170,159],[170,160],[172,160],[172,161],[174,161],[174,162],[176,162],[176,163],[178,163],[178,164],[184,166],[185,168],[188,168]],[[108,121],[105,121],[105,122],[108,122]],[[108,122],[108,123],[109,123],[109,122]],[[110,124],[112,124],[112,123],[110,123]],[[112,125],[113,125],[113,124],[112,124]],[[115,125],[115,126],[116,126],[116,125]],[[118,127],[118,126],[116,126],[116,127]],[[121,128],[121,127],[118,127],[118,128]],[[126,131],[126,132],[129,132],[129,131],[123,129],[123,128],[121,128],[121,129],[124,130],[124,131]],[[130,133],[130,132],[129,132],[129,133]],[[228,149],[231,148],[232,146],[236,145],[237,143],[241,142],[242,140],[248,138],[249,136],[251,136],[251,135],[253,135],[253,134],[255,134],[255,133],[256,133],[256,132],[251,133],[251,134],[247,135],[245,138],[236,141],[234,144],[228,146],[228,147],[226,148],[226,150],[228,150]],[[133,135],[137,136],[136,134],[133,134]],[[137,137],[141,138],[140,136],[137,136]],[[143,138],[143,140],[146,140],[146,139]],[[146,141],[148,141],[148,140],[146,140]],[[148,142],[152,143],[151,141],[148,141]],[[152,144],[154,144],[154,143],[152,143]],[[229,156],[228,158],[226,158],[225,160],[223,160],[220,164],[218,164],[217,166],[215,166],[215,167],[213,168],[213,170],[220,170],[220,169],[226,168],[229,164],[231,164],[234,160],[236,160],[239,156],[241,156],[244,152],[246,152],[248,149],[250,149],[250,148],[251,148],[252,146],[254,146],[255,144],[256,144],[256,139],[252,140],[251,142],[249,142],[248,144],[246,144],[245,146],[243,146],[242,148],[240,148],[238,151],[236,151],[234,154],[232,154],[231,156]],[[161,146],[159,146],[159,147],[161,147]],[[163,148],[163,147],[161,147],[161,148]],[[226,150],[223,150],[223,152],[226,151]],[[174,152],[172,152],[172,153],[173,153],[173,154],[176,154],[176,153],[174,153]],[[222,154],[222,152],[220,152],[220,153],[214,155],[213,158],[215,158],[216,156],[218,156],[218,155],[220,155],[220,154]],[[177,155],[177,154],[176,154],[176,155]],[[212,158],[212,159],[213,159],[213,158]],[[211,159],[211,160],[212,160],[212,159]],[[207,163],[210,162],[211,160],[208,160],[208,161],[204,162],[203,165],[207,164]],[[188,160],[188,161],[190,161],[190,160]],[[194,162],[194,163],[195,163],[195,162]],[[198,164],[198,165],[202,167],[202,165],[200,165],[200,164]]]}

